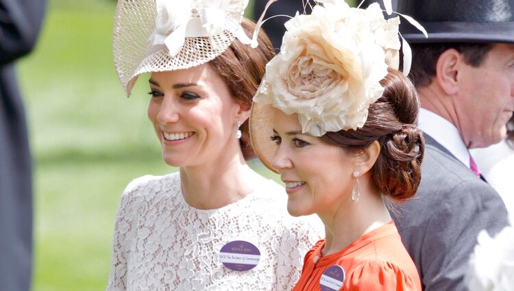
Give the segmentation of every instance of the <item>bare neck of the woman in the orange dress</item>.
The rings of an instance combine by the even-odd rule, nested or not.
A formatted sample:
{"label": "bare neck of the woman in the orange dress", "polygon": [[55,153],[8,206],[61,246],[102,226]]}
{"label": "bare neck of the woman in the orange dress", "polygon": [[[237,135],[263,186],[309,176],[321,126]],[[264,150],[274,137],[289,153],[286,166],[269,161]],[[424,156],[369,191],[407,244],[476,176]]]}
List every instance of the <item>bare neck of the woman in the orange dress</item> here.
{"label": "bare neck of the woman in the orange dress", "polygon": [[[353,202],[351,195],[331,214],[319,214],[325,225],[326,242],[324,255],[337,253],[366,233],[391,221],[387,207],[376,188],[367,188],[361,183],[360,199]],[[342,223],[344,222],[344,223]]]}

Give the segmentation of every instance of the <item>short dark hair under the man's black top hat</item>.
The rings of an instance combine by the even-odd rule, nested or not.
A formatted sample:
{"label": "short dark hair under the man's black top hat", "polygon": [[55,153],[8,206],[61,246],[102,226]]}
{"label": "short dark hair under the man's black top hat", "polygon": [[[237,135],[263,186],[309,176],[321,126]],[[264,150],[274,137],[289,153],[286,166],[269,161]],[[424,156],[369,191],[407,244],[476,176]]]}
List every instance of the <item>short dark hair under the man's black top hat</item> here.
{"label": "short dark hair under the man's black top hat", "polygon": [[411,68],[411,79],[417,88],[430,85],[432,77],[435,77],[437,60],[442,53],[448,49],[456,49],[463,55],[464,62],[475,68],[482,64],[485,56],[494,44],[474,42],[448,42],[448,43],[426,43],[412,44],[413,63]]}

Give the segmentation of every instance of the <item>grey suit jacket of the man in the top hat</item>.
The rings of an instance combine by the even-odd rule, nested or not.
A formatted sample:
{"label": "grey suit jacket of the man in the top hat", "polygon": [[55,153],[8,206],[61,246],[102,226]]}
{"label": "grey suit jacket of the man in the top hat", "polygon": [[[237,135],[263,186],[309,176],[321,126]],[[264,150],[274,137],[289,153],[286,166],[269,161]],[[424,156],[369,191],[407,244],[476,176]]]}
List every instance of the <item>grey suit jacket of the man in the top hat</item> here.
{"label": "grey suit jacket of the man in the top hat", "polygon": [[421,184],[392,213],[425,291],[467,290],[469,255],[482,229],[508,225],[500,195],[439,144],[426,144]]}

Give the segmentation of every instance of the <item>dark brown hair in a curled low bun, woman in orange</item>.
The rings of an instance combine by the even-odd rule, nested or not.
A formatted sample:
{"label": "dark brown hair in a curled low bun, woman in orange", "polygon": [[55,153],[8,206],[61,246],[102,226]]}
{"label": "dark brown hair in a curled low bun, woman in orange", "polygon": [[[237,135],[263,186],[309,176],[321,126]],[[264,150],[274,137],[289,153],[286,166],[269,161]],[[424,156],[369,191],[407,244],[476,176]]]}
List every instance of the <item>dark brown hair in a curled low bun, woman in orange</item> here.
{"label": "dark brown hair in a curled low bun, woman in orange", "polygon": [[380,84],[384,94],[369,106],[363,127],[327,132],[321,138],[357,153],[377,140],[380,154],[371,168],[373,180],[382,194],[402,201],[414,196],[421,181],[425,140],[417,128],[419,99],[412,82],[399,71],[389,69]]}

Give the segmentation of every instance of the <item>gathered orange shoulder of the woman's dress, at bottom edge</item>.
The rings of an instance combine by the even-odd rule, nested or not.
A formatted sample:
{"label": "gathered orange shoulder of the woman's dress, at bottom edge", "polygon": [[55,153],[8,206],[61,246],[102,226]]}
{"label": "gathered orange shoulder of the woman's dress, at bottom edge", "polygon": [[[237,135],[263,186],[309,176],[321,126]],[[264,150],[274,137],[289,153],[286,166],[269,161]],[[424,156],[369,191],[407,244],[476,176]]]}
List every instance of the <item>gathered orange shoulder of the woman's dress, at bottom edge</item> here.
{"label": "gathered orange shoulder of the woman's dress, at bottom edge", "polygon": [[387,261],[369,261],[359,264],[347,273],[345,290],[419,290],[417,273],[407,272]]}

